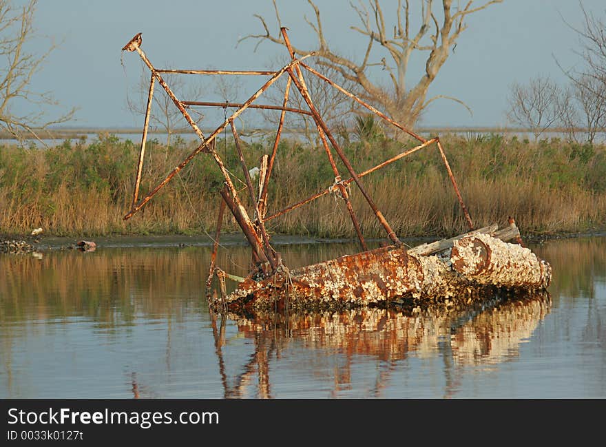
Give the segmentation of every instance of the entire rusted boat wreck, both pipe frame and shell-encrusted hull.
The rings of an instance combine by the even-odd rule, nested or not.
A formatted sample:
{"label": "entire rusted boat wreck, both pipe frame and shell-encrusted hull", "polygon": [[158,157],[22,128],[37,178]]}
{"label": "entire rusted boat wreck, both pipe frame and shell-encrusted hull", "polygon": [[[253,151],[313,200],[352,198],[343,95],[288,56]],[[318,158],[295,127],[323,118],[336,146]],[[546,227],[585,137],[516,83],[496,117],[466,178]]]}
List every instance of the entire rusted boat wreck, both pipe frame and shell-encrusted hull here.
{"label": "entire rusted boat wreck, both pipe frame and shell-encrusted hull", "polygon": [[[375,107],[368,105],[355,94],[348,92],[331,79],[328,79],[322,73],[317,72],[305,62],[307,58],[313,57],[313,53],[306,54],[298,59],[295,58],[286,28],[282,28],[281,33],[284,45],[289,50],[291,61],[275,71],[157,69],[141,49],[142,39],[140,34],[137,34],[123,48],[123,51],[137,52],[151,72],[143,136],[134,180],[132,207],[124,216],[124,219],[131,218],[142,209],[160,189],[198,155],[213,158],[217,169],[223,176],[224,187],[220,191],[217,228],[213,240],[209,276],[206,281],[207,299],[211,309],[222,313],[246,313],[267,310],[389,306],[391,304],[422,305],[429,302],[449,302],[453,300],[470,302],[470,300],[483,298],[487,294],[492,295],[496,291],[532,293],[547,289],[552,277],[550,264],[538,258],[535,253],[524,246],[513,218],[508,218],[508,224],[501,229],[498,225],[483,228],[474,227],[439,137],[426,139],[415,134],[375,109]],[[243,103],[229,103],[229,101],[213,103],[199,101],[199,98],[196,98],[196,101],[177,98],[163,78],[165,73],[266,76],[268,79]],[[384,160],[375,167],[365,171],[357,171],[317,111],[313,98],[311,98],[306,87],[304,75],[316,76],[328,83],[328,85],[365,107],[389,125],[395,126],[401,132],[414,138],[418,141],[418,144],[415,147],[405,148],[403,152]],[[281,76],[286,76],[282,105],[258,103],[258,98]],[[194,133],[200,138],[200,144],[177,167],[170,171],[156,187],[152,188],[143,198],[140,198],[139,188],[145,159],[151,103],[156,83],[169,96]],[[304,105],[306,105],[305,109],[289,107],[291,91],[300,95]],[[198,123],[190,116],[188,110],[191,107],[223,107],[226,111],[225,119],[210,134],[205,135],[198,127]],[[227,115],[228,107],[230,110],[235,109],[235,112],[229,116]],[[240,136],[235,125],[236,118],[249,109],[278,110],[280,112],[271,153],[264,154],[260,158],[258,167],[254,167],[254,169],[258,169],[258,179],[255,184],[253,184],[250,175],[251,170],[244,160]],[[271,181],[286,113],[304,114],[313,119],[317,127],[319,141],[321,141],[324,155],[331,165],[334,178],[327,181],[328,185],[323,191],[270,214],[268,213],[268,185]],[[233,173],[226,168],[224,160],[216,150],[217,137],[228,127],[233,134],[234,150],[237,152],[242,167],[242,178],[244,180],[240,181],[245,185],[242,191],[249,195],[250,200],[240,198],[242,191],[236,189]],[[396,236],[388,220],[368,194],[362,178],[428,147],[435,147],[439,151],[469,231],[454,238],[436,240],[417,247],[408,247]],[[339,172],[336,160],[340,161],[340,166],[344,166],[346,171]],[[368,249],[351,204],[350,185],[357,187],[368,207],[372,209],[379,225],[384,229],[388,242],[383,247]],[[266,223],[326,194],[334,194],[339,200],[344,201],[359,241],[360,251],[333,260],[289,269],[288,260],[282,259],[280,253],[272,247]],[[244,206],[244,202],[252,205],[247,208]],[[227,209],[238,223],[251,248],[251,269],[245,277],[234,276],[216,265],[222,220],[224,211]],[[233,284],[230,284],[229,288],[227,287],[227,280],[236,282],[235,289],[231,287]],[[215,283],[217,287],[213,288]]]}

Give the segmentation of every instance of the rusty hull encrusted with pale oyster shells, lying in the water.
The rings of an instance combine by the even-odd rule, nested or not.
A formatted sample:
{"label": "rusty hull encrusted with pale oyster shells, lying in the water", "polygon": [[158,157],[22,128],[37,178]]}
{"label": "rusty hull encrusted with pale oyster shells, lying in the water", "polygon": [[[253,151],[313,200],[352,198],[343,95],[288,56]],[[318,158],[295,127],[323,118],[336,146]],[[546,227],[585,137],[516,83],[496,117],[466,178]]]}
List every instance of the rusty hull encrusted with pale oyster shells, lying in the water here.
{"label": "rusty hull encrusted with pale oyster shells, lying in the water", "polygon": [[[262,280],[247,278],[227,296],[231,311],[353,308],[482,298],[496,289],[545,290],[550,265],[529,249],[473,231],[433,256],[405,247],[342,256]],[[454,247],[453,247],[454,246]]]}

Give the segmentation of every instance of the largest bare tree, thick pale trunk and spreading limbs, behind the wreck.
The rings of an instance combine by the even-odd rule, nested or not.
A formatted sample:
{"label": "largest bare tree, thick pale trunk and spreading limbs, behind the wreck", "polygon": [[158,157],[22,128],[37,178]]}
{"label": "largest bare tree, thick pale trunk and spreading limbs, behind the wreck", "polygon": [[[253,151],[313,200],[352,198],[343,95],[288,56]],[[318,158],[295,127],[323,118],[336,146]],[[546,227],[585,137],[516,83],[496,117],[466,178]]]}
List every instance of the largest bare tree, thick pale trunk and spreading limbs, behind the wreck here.
{"label": "largest bare tree, thick pale trunk and spreading limbs, behind the wreck", "polygon": [[[448,98],[457,101],[459,99],[450,96],[438,95],[427,98],[428,89],[436,78],[440,68],[446,63],[450,52],[457,45],[457,39],[461,32],[467,29],[466,18],[474,12],[487,8],[502,0],[485,0],[476,6],[474,0],[469,0],[465,6],[452,6],[452,0],[440,2],[440,13],[435,12],[434,1],[421,0],[420,17],[415,19],[412,14],[409,0],[398,0],[397,9],[393,14],[384,15],[379,0],[369,0],[368,8],[360,1],[357,5],[350,3],[359,17],[360,25],[351,26],[351,29],[362,34],[368,39],[368,43],[361,60],[355,61],[341,54],[337,54],[328,46],[322,28],[320,10],[313,1],[308,0],[313,8],[315,20],[305,18],[317,37],[318,64],[337,70],[344,79],[353,81],[357,87],[357,94],[369,103],[373,103],[385,110],[396,121],[406,127],[415,125],[421,112],[433,101],[439,98]],[[404,3],[404,4],[403,4]],[[276,32],[282,26],[278,6],[273,0],[275,16],[278,21]],[[267,21],[264,17],[255,15],[264,28],[262,34],[250,34],[244,39],[259,39],[272,41],[284,45],[280,34],[272,35],[269,31]],[[393,23],[386,21],[393,17]],[[419,23],[418,28],[415,23]],[[413,29],[414,28],[414,29]],[[375,47],[382,50],[384,56],[375,56]],[[303,55],[311,52],[309,49],[293,47],[295,54]],[[408,63],[413,53],[426,53],[425,70],[420,79],[412,87],[407,81],[410,78]],[[381,67],[379,73],[386,74],[386,79],[373,81],[370,79],[370,71],[373,67]],[[373,72],[373,74],[375,74]],[[463,104],[464,105],[464,104]],[[467,107],[467,106],[466,106]]]}

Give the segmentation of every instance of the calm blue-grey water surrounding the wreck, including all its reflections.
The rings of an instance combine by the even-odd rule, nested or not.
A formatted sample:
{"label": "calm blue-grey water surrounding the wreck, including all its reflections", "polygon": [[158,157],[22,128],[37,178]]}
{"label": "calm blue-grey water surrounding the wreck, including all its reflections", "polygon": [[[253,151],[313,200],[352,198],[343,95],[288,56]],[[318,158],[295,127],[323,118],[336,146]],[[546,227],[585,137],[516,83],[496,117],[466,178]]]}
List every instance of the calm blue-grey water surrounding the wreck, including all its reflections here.
{"label": "calm blue-grey water surrounding the wreck, including all its reflections", "polygon": [[[287,320],[211,318],[205,245],[0,254],[0,397],[606,397],[606,237],[532,249],[549,294]],[[280,250],[295,267],[355,245]]]}

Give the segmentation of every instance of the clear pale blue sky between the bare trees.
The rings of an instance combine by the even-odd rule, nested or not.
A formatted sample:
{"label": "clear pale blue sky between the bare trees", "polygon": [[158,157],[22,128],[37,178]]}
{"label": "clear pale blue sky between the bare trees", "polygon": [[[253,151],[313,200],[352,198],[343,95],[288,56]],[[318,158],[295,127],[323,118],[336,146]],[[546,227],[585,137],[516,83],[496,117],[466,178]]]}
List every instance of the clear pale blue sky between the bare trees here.
{"label": "clear pale blue sky between the bare trees", "polygon": [[[17,1],[16,3],[19,3]],[[331,47],[347,55],[362,52],[359,36],[349,26],[357,16],[348,1],[317,0],[326,37]],[[386,21],[393,21],[396,1],[383,1]],[[411,1],[415,3],[415,1]],[[483,3],[477,0],[477,3]],[[603,0],[584,0],[585,9],[606,19]],[[312,46],[313,34],[303,19],[313,15],[303,0],[278,0],[282,23],[290,29],[295,45]],[[139,127],[143,119],[126,109],[126,97],[138,81],[140,63],[121,48],[136,32],[143,32],[143,49],[158,67],[260,69],[272,67],[284,49],[238,38],[260,31],[253,14],[267,17],[277,29],[271,0],[218,1],[81,1],[41,0],[35,26],[39,37],[34,51],[48,46],[48,37],[63,41],[43,71],[36,76],[35,90],[54,92],[65,106],[77,106],[70,125]],[[425,126],[506,125],[507,95],[512,82],[524,83],[543,74],[565,83],[555,58],[574,67],[580,58],[578,38],[563,21],[581,28],[583,14],[576,0],[505,0],[473,14],[461,34],[456,52],[441,69],[430,94],[455,96],[467,103],[470,114],[451,101],[435,101],[422,118]],[[390,27],[388,27],[390,28]],[[377,61],[384,54],[377,52]],[[274,65],[275,66],[275,65]],[[411,79],[422,74],[421,61],[410,66]],[[257,84],[257,82],[259,84]],[[244,100],[260,85],[258,79],[245,85]],[[213,99],[210,99],[213,101]]]}

